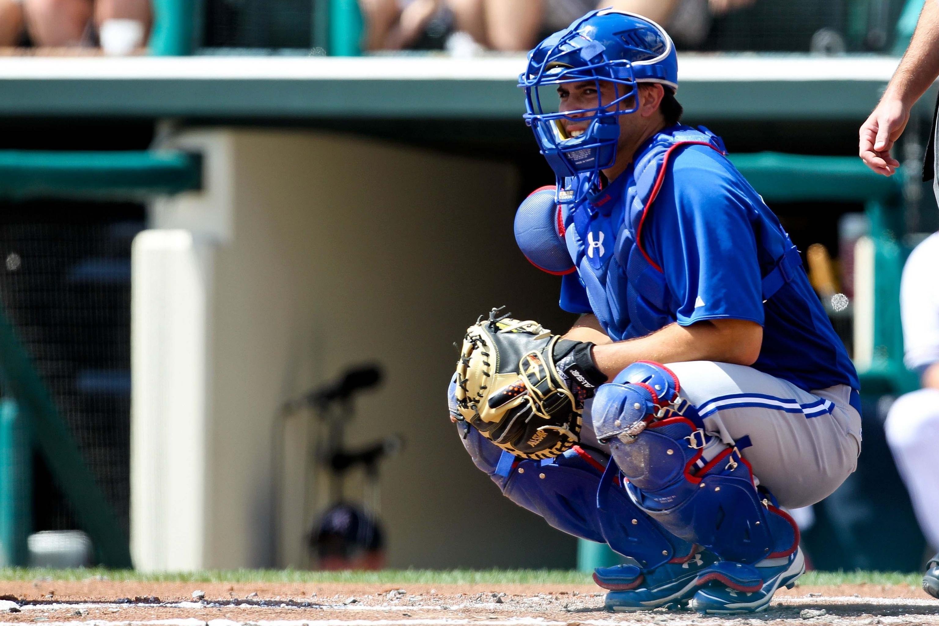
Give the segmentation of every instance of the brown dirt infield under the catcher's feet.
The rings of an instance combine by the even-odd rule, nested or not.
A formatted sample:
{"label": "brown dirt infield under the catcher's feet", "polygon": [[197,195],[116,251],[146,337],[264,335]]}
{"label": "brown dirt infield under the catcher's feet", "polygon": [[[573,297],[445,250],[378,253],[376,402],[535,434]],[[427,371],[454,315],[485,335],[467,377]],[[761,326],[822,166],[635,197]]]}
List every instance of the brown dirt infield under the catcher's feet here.
{"label": "brown dirt infield under the catcher's feet", "polygon": [[[691,611],[607,613],[593,585],[0,583],[0,624],[79,626],[611,626],[613,624],[939,624],[939,601],[909,586],[796,587],[740,618]],[[205,596],[194,599],[193,592]],[[824,611],[824,614],[822,613]],[[45,626],[45,625],[44,625]]]}

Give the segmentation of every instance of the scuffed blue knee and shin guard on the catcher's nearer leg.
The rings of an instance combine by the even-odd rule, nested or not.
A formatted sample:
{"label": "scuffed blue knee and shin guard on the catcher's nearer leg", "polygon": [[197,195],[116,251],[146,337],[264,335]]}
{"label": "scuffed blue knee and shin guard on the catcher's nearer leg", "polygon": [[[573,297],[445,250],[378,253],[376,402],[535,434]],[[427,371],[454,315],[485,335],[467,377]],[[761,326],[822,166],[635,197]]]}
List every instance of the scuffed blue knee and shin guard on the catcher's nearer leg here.
{"label": "scuffed blue knee and shin guard on the catcher's nearer leg", "polygon": [[694,407],[678,399],[677,381],[674,396],[656,398],[649,381],[670,380],[668,368],[638,365],[602,385],[593,401],[594,430],[609,443],[633,502],[671,533],[726,560],[792,554],[798,528],[772,496],[758,491],[739,452],[704,433]]}

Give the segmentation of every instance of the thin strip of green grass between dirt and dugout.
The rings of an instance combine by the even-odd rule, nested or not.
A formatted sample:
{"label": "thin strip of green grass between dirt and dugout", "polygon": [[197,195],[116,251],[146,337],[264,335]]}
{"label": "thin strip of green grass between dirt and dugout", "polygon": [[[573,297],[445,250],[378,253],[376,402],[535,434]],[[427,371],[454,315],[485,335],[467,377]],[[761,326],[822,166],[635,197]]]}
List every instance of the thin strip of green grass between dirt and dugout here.
{"label": "thin strip of green grass between dirt and dugout", "polygon": [[[211,570],[189,573],[140,573],[100,568],[50,570],[0,568],[0,581],[37,579],[81,581],[106,577],[117,581],[176,583],[352,583],[360,585],[589,585],[589,574],[569,570],[386,570],[382,572],[304,572],[298,570]],[[809,585],[912,585],[919,587],[921,574],[899,572],[809,572],[799,584]]]}

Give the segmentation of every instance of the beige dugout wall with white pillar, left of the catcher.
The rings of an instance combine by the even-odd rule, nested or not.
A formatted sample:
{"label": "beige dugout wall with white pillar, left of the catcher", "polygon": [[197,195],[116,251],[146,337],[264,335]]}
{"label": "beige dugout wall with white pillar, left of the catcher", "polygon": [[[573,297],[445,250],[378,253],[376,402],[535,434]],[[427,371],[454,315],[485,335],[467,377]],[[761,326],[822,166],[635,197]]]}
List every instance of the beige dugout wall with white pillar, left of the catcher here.
{"label": "beige dugout wall with white pillar, left of the catcher", "polygon": [[155,203],[135,242],[136,566],[303,566],[316,442],[308,414],[278,407],[377,361],[386,382],[347,441],[407,441],[383,468],[388,565],[573,567],[575,541],[502,497],[445,413],[453,343],[477,314],[570,321],[557,280],[514,245],[514,167],[314,132],[169,145],[204,153],[206,190]]}

